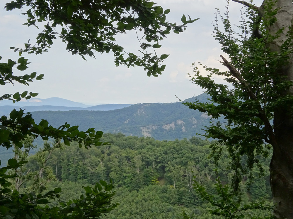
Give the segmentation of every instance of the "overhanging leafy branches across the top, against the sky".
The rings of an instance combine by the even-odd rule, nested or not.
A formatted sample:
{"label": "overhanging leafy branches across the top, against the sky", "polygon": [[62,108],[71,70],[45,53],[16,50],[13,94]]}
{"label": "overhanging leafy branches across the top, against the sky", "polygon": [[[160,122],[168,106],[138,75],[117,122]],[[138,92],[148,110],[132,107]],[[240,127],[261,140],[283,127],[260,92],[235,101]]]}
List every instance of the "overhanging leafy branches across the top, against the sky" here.
{"label": "overhanging leafy branches across the top, against the sky", "polygon": [[[99,53],[113,52],[116,65],[142,66],[148,76],[158,76],[166,65],[160,65],[168,57],[156,53],[148,53],[147,48],[160,48],[159,41],[166,37],[171,30],[180,33],[186,25],[195,20],[182,16],[182,25],[166,21],[169,9],[163,10],[152,1],[31,1],[17,0],[7,3],[6,10],[26,8],[27,22],[24,25],[45,28],[38,34],[35,45],[30,42],[25,48],[11,47],[15,51],[39,54],[45,52],[59,36],[67,43],[67,50],[72,54],[94,57],[93,51]],[[61,29],[58,31],[58,29]],[[116,36],[134,30],[137,34],[142,32],[140,54],[127,53],[117,43]],[[141,39],[141,40],[142,40]],[[127,58],[123,55],[127,54]]]}

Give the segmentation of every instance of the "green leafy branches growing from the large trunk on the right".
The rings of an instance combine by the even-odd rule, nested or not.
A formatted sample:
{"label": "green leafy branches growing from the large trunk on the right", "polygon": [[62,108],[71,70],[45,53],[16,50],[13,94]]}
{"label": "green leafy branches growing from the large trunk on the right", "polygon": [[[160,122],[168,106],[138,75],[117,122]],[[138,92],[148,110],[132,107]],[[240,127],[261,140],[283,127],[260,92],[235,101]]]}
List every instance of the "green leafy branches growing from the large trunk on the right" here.
{"label": "green leafy branches growing from the large trunk on the right", "polygon": [[[259,25],[262,38],[250,36],[256,27],[258,11],[248,8],[242,12],[239,31],[234,31],[229,21],[229,10],[224,15],[217,11],[214,23],[214,37],[222,45],[222,50],[229,55],[228,62],[222,55],[223,65],[229,71],[221,72],[219,69],[203,66],[210,74],[205,77],[193,64],[195,76],[191,77],[194,84],[201,86],[211,96],[209,102],[186,102],[191,109],[198,109],[212,116],[213,122],[206,127],[206,138],[217,139],[211,147],[213,156],[217,160],[224,147],[227,147],[232,159],[231,167],[235,171],[234,187],[238,190],[241,182],[241,172],[246,173],[259,165],[258,155],[268,157],[268,151],[272,144],[272,125],[276,105],[290,106],[292,96],[282,95],[281,91],[293,85],[284,76],[275,74],[280,66],[288,61],[291,52],[291,34],[284,42],[281,53],[271,51],[267,46],[278,35],[272,36],[268,32],[275,22],[276,11],[272,10],[273,1],[266,1],[264,22]],[[224,32],[218,25],[219,19],[223,22]],[[245,19],[247,17],[247,20]],[[289,45],[288,45],[289,44]],[[231,86],[215,83],[213,76],[224,77]],[[276,85],[277,84],[277,85]],[[222,123],[219,117],[224,116],[227,122]],[[264,142],[266,142],[264,144]],[[245,158],[247,165],[241,164],[241,157]]]}

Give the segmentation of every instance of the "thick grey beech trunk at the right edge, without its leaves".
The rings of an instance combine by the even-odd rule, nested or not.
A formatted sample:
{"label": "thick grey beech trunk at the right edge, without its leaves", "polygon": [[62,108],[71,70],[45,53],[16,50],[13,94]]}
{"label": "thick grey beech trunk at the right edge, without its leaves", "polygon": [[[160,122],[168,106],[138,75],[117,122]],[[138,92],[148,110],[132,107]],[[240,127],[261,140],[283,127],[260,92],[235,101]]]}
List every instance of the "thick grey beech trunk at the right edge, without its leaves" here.
{"label": "thick grey beech trunk at the right edge, without its leaves", "polygon": [[[263,5],[267,0],[264,0]],[[280,38],[270,44],[272,51],[280,51],[282,41],[287,39],[287,32],[292,26],[292,0],[278,0],[274,6],[279,8],[275,17],[277,21],[270,28],[270,34],[285,28]],[[287,66],[280,67],[282,74],[293,81],[293,55]],[[283,94],[292,94],[293,88]],[[270,185],[274,202],[274,213],[277,218],[293,219],[293,117],[292,112],[284,106],[279,106],[274,112],[273,156],[270,162]]]}

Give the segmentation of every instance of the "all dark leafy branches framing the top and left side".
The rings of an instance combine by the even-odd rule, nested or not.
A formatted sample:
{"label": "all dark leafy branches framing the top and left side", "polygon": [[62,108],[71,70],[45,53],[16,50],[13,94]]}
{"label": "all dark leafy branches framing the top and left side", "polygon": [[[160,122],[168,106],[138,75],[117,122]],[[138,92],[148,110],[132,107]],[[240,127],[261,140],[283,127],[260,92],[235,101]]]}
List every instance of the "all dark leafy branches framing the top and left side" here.
{"label": "all dark leafy branches framing the top and left side", "polygon": [[[59,36],[62,41],[67,43],[67,50],[72,54],[79,54],[85,59],[85,55],[94,57],[94,52],[112,51],[115,57],[116,65],[124,64],[127,67],[138,65],[143,66],[147,71],[147,75],[157,76],[164,70],[165,65],[161,65],[164,59],[168,57],[166,54],[157,56],[156,53],[148,53],[147,48],[159,48],[159,41],[169,34],[171,30],[175,33],[183,32],[186,24],[192,23],[195,20],[186,19],[182,16],[182,25],[166,22],[166,14],[170,10],[163,10],[161,6],[156,6],[154,2],[146,0],[134,1],[94,1],[94,0],[16,0],[7,3],[4,7],[7,11],[13,9],[26,8],[27,26],[44,25],[45,28],[40,31],[34,45],[24,44],[24,48],[15,48],[14,51],[19,52],[21,56],[17,62],[8,59],[7,62],[0,63],[0,85],[4,86],[7,83],[21,83],[29,85],[33,80],[41,80],[43,74],[37,76],[36,72],[16,76],[13,72],[28,68],[28,59],[22,57],[23,53],[40,54],[46,52],[53,44],[56,36]],[[57,30],[60,30],[57,32]],[[122,46],[116,44],[115,36],[117,34],[126,33],[128,30],[143,33],[144,41],[141,43],[142,58],[134,53],[127,53],[127,58],[123,55],[126,53]],[[0,60],[1,60],[0,56]],[[0,97],[1,100],[12,100],[13,102],[20,101],[22,98],[30,99],[35,97],[37,93],[4,94]],[[36,124],[30,113],[24,113],[23,109],[19,111],[13,110],[9,118],[2,116],[0,119],[0,145],[7,149],[15,146],[22,148],[23,142],[28,138],[41,137],[43,140],[49,138],[63,140],[65,145],[70,145],[70,142],[76,141],[79,147],[100,146],[102,142],[100,138],[103,132],[95,131],[94,128],[89,128],[87,131],[79,131],[78,126],[70,126],[65,123],[59,128],[54,128],[43,119],[39,124]],[[56,144],[58,145],[58,143]],[[46,146],[46,145],[45,145]],[[45,158],[42,153],[40,157],[39,178],[44,172],[45,164],[49,159],[52,148],[47,145],[44,149],[49,153]],[[15,149],[15,151],[17,151]],[[26,155],[26,154],[23,154]],[[27,155],[26,155],[27,156]],[[11,179],[20,178],[17,175],[19,168],[25,164],[25,159],[17,160],[10,159],[8,166],[0,169],[0,216],[1,218],[98,218],[102,214],[111,211],[117,204],[112,203],[113,185],[107,184],[100,180],[94,187],[84,187],[85,196],[80,199],[61,202],[59,206],[50,207],[50,199],[59,198],[60,189],[56,188],[46,194],[20,193],[18,190],[11,189]],[[57,167],[57,166],[56,166]],[[13,172],[14,174],[7,174]],[[19,186],[21,183],[17,184]]]}

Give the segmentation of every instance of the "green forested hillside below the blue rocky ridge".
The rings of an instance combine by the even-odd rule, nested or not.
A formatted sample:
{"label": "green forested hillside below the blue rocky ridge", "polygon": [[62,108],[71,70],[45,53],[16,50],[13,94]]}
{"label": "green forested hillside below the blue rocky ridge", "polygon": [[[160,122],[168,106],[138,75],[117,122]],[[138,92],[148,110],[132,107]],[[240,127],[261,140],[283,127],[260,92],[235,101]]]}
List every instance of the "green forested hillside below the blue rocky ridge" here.
{"label": "green forested hillside below the blue rocky ridge", "polygon": [[[215,191],[211,185],[218,176],[223,183],[229,182],[230,171],[226,169],[229,159],[225,156],[220,159],[221,169],[215,173],[213,162],[207,158],[211,151],[207,140],[193,137],[190,140],[159,141],[149,137],[108,133],[104,134],[103,141],[109,144],[88,150],[77,145],[63,145],[29,157],[23,171],[30,170],[32,175],[26,178],[22,190],[61,187],[61,200],[66,201],[78,198],[83,191],[82,185],[112,179],[116,190],[114,202],[120,205],[106,214],[104,219],[179,219],[183,218],[183,209],[193,215],[191,218],[218,218],[208,213],[212,206],[195,193],[193,185],[193,176],[196,176],[197,181],[207,186],[213,194]],[[268,166],[269,159],[260,161]],[[41,168],[44,171],[40,181],[37,181],[38,185],[44,186],[42,188],[35,186],[37,184],[33,177],[35,173],[39,174]],[[264,178],[258,178],[255,171],[255,182],[251,185],[247,178],[243,178],[244,204],[262,198],[269,203],[268,168],[265,168],[264,174]],[[270,212],[251,210],[248,213],[246,218],[265,216]]]}

